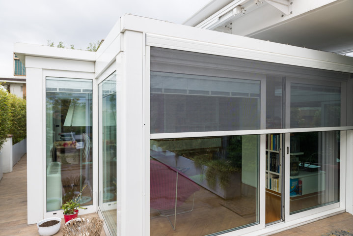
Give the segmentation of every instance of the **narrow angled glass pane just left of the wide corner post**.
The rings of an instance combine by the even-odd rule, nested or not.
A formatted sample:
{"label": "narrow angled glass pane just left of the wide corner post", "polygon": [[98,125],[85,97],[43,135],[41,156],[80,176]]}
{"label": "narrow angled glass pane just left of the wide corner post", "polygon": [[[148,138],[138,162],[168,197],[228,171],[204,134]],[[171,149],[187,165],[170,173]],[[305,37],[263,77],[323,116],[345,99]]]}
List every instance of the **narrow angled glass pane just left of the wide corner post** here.
{"label": "narrow angled glass pane just left of the wide corner post", "polygon": [[99,98],[99,208],[110,235],[116,236],[116,75],[98,86]]}

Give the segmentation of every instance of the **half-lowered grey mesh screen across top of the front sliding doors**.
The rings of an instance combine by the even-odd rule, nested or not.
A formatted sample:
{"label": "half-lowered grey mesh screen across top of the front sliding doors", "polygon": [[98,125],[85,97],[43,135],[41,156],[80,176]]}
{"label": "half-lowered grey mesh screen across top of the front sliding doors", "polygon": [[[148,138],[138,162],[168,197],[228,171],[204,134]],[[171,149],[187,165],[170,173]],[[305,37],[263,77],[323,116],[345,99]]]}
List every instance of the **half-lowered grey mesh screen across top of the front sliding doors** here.
{"label": "half-lowered grey mesh screen across top of the front sliding doors", "polygon": [[[340,82],[351,77],[344,72],[151,47],[150,130],[260,129],[260,82],[266,82],[266,123],[261,127],[345,126],[340,122]],[[292,84],[291,101],[285,104],[287,78],[313,85]],[[320,86],[324,81],[337,87]],[[285,105],[291,108],[286,127]]]}

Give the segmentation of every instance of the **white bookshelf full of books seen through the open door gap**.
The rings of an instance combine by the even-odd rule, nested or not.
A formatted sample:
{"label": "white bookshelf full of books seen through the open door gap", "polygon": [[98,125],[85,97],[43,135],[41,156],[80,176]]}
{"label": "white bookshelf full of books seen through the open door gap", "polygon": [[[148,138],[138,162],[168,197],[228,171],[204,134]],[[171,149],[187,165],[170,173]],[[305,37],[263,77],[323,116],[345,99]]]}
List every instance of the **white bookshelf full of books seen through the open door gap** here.
{"label": "white bookshelf full of books seen through the open door gap", "polygon": [[266,188],[281,193],[282,166],[281,166],[282,134],[266,135]]}

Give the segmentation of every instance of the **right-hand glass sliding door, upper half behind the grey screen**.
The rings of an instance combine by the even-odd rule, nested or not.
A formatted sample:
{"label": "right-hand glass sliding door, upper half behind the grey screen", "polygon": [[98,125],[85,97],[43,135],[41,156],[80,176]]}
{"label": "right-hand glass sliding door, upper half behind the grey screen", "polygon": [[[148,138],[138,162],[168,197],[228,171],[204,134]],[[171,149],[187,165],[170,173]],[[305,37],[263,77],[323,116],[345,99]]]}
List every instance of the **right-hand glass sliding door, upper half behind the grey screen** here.
{"label": "right-hand glass sliding door, upper half behind the grey screen", "polygon": [[[345,124],[344,110],[341,110],[345,99],[344,90],[341,91],[344,83],[294,78],[287,82],[287,127]],[[338,203],[340,131],[286,134],[286,148],[287,215],[296,217],[299,212],[303,213],[298,215],[305,215],[304,211]]]}

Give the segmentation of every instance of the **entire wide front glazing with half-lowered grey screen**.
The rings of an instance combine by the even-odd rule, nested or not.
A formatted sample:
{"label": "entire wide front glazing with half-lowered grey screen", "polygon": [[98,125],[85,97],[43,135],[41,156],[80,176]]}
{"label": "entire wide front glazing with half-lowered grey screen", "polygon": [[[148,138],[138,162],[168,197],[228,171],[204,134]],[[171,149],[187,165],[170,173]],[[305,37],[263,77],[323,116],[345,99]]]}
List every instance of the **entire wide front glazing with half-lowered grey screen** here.
{"label": "entire wide front glazing with half-lowered grey screen", "polygon": [[[259,223],[256,130],[346,125],[341,88],[348,73],[156,47],[151,47],[150,68],[151,235],[171,235],[178,226],[180,235],[183,230],[218,234]],[[249,130],[254,135],[245,135]],[[299,167],[292,182],[299,186],[300,180],[301,194],[313,196],[310,202],[291,196],[290,214],[337,203],[339,133],[292,136],[290,155]],[[273,149],[272,156],[281,151]],[[273,176],[281,173],[275,167],[281,160],[268,158]],[[310,171],[316,174],[306,174]],[[273,178],[278,193],[281,175]],[[305,177],[310,175],[317,184],[308,192]],[[278,206],[278,220],[283,220]]]}

